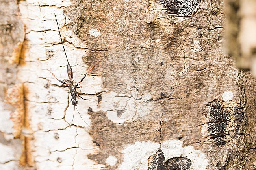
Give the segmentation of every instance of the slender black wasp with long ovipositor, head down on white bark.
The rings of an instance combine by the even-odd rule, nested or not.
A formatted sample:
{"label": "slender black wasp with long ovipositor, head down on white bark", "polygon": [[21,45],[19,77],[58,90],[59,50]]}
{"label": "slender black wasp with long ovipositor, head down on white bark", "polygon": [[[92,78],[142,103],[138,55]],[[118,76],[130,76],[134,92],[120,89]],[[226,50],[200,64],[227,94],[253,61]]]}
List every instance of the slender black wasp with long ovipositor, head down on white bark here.
{"label": "slender black wasp with long ovipositor, head down on white bark", "polygon": [[[58,26],[58,31],[59,31],[59,25],[58,25],[58,21],[57,21],[56,15],[54,14],[54,16],[55,16],[56,23],[57,23],[57,26]],[[65,51],[65,48],[64,48],[64,45],[63,45],[63,41],[62,41],[62,38],[61,38],[61,33],[60,33],[60,31],[59,31],[59,37],[60,37],[60,39],[61,39],[61,44],[62,44],[62,46],[63,46],[64,53],[65,53],[65,56],[66,56],[66,59],[67,59],[67,62],[68,62],[68,64],[67,64],[67,73],[68,73],[68,77],[69,77],[68,83],[57,79],[57,77],[54,75],[54,73],[52,73],[52,72],[51,72],[51,73],[52,73],[52,75],[53,75],[59,82],[61,82],[62,84],[64,84],[65,86],[67,86],[67,87],[70,88],[70,90],[68,91],[68,93],[69,93],[69,92],[71,93],[71,97],[72,97],[72,98],[71,98],[71,101],[70,101],[70,102],[72,102],[72,105],[74,105],[74,113],[75,113],[75,108],[76,108],[76,110],[77,110],[77,112],[78,112],[78,109],[77,109],[77,107],[76,107],[77,104],[78,104],[78,101],[76,100],[76,98],[77,98],[77,97],[80,97],[81,99],[83,99],[83,97],[81,97],[80,95],[78,95],[78,93],[76,92],[76,88],[82,88],[81,86],[78,87],[78,85],[80,85],[80,83],[85,79],[85,77],[88,75],[88,73],[89,73],[93,68],[95,68],[95,66],[99,63],[99,61],[98,61],[91,69],[89,69],[89,71],[87,71],[87,73],[83,76],[83,78],[80,80],[80,82],[74,84],[74,80],[73,80],[73,71],[72,71],[72,68],[71,68],[71,66],[70,66],[70,64],[69,64],[69,60],[68,60],[68,58],[67,58],[67,54],[66,54],[66,51]],[[83,100],[86,100],[86,99],[83,99]],[[74,120],[74,113],[73,113],[73,118],[72,118],[71,125],[72,125],[73,120]],[[78,112],[78,114],[80,115],[81,119],[83,120],[81,114],[80,114],[79,112]],[[83,122],[85,122],[85,121],[83,120]],[[85,124],[87,124],[87,123],[85,122]],[[89,125],[87,124],[87,126],[89,126]],[[90,127],[90,126],[89,126],[89,127]],[[71,126],[70,126],[70,128],[71,128]]]}

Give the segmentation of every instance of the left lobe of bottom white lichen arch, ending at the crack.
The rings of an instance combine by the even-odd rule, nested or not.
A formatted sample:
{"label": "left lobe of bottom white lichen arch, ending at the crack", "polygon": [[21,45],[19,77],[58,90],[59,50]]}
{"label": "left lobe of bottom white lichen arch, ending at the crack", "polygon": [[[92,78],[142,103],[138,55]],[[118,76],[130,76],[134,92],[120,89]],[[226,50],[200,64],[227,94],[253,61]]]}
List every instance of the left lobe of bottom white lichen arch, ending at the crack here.
{"label": "left lobe of bottom white lichen arch, ending at the crack", "polygon": [[160,149],[159,143],[135,142],[128,145],[124,150],[124,161],[119,166],[119,170],[147,170],[148,157],[156,154]]}

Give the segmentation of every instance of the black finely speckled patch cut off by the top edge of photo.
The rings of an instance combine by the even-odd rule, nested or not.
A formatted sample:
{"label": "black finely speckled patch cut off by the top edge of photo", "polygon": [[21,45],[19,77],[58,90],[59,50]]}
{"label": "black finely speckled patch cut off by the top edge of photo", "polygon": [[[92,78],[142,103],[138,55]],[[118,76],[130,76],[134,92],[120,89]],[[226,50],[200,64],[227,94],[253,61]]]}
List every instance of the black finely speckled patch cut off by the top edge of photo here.
{"label": "black finely speckled patch cut off by the top edge of photo", "polygon": [[160,0],[170,13],[191,16],[199,8],[201,0]]}

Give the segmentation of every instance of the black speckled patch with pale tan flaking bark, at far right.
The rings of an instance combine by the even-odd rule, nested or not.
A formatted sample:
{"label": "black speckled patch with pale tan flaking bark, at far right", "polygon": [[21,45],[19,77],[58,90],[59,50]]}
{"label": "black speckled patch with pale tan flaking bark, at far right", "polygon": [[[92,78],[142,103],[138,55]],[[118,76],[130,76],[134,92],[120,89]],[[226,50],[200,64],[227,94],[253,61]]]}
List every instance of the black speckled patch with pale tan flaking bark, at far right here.
{"label": "black speckled patch with pale tan flaking bark, at far right", "polygon": [[215,99],[207,107],[208,113],[204,115],[209,122],[206,126],[215,144],[225,145],[228,140],[241,134],[239,126],[245,119],[245,111],[240,104]]}

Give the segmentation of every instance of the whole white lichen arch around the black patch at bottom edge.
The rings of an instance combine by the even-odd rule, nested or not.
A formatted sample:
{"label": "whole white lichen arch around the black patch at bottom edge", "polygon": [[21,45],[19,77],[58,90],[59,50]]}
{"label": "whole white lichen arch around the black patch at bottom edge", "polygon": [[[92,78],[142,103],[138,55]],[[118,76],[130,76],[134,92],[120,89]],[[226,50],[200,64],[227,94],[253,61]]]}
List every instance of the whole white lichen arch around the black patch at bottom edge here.
{"label": "whole white lichen arch around the black patch at bottom edge", "polygon": [[190,170],[206,170],[208,160],[206,154],[200,150],[195,150],[193,146],[182,147],[183,142],[178,140],[163,141],[159,143],[136,142],[128,145],[124,150],[124,161],[119,166],[119,170],[147,170],[148,158],[158,150],[165,156],[165,161],[176,157],[187,157],[191,160]]}

